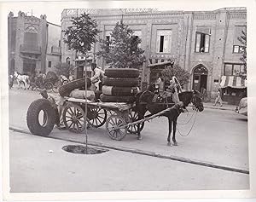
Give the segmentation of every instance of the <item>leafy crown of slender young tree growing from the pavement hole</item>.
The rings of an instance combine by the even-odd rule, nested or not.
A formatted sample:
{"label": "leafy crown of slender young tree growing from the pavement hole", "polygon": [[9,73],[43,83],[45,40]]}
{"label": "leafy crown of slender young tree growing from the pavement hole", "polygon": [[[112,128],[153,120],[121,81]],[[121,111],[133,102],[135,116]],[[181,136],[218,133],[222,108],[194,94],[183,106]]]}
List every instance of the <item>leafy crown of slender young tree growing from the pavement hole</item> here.
{"label": "leafy crown of slender young tree growing from the pavement hole", "polygon": [[91,49],[91,44],[96,43],[96,35],[100,32],[96,20],[92,20],[89,14],[84,13],[79,17],[73,17],[71,21],[73,26],[68,26],[67,30],[62,31],[66,37],[64,42],[71,49],[86,55]]}

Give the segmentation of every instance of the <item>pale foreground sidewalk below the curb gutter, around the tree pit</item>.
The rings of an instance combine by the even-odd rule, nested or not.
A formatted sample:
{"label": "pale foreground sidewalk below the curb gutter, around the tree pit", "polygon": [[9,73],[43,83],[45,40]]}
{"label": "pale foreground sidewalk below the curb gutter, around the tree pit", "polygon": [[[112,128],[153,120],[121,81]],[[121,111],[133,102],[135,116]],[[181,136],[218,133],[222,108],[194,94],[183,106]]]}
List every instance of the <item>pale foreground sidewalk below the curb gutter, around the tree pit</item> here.
{"label": "pale foreground sidewalk below the curb gutter, around the tree pit", "polygon": [[11,192],[249,188],[247,174],[115,150],[73,154],[61,150],[67,144],[70,142],[10,132]]}

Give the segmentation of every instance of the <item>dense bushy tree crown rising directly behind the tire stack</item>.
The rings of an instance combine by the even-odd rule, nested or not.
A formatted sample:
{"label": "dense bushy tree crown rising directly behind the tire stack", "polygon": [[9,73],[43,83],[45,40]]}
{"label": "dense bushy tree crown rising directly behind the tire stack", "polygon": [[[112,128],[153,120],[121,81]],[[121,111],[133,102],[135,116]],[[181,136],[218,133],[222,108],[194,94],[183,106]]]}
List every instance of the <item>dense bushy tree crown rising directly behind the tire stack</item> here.
{"label": "dense bushy tree crown rising directly behind the tire stack", "polygon": [[138,68],[145,61],[144,50],[138,44],[141,38],[125,26],[123,20],[117,22],[110,33],[110,38],[101,40],[101,50],[97,52],[111,67],[115,68]]}

